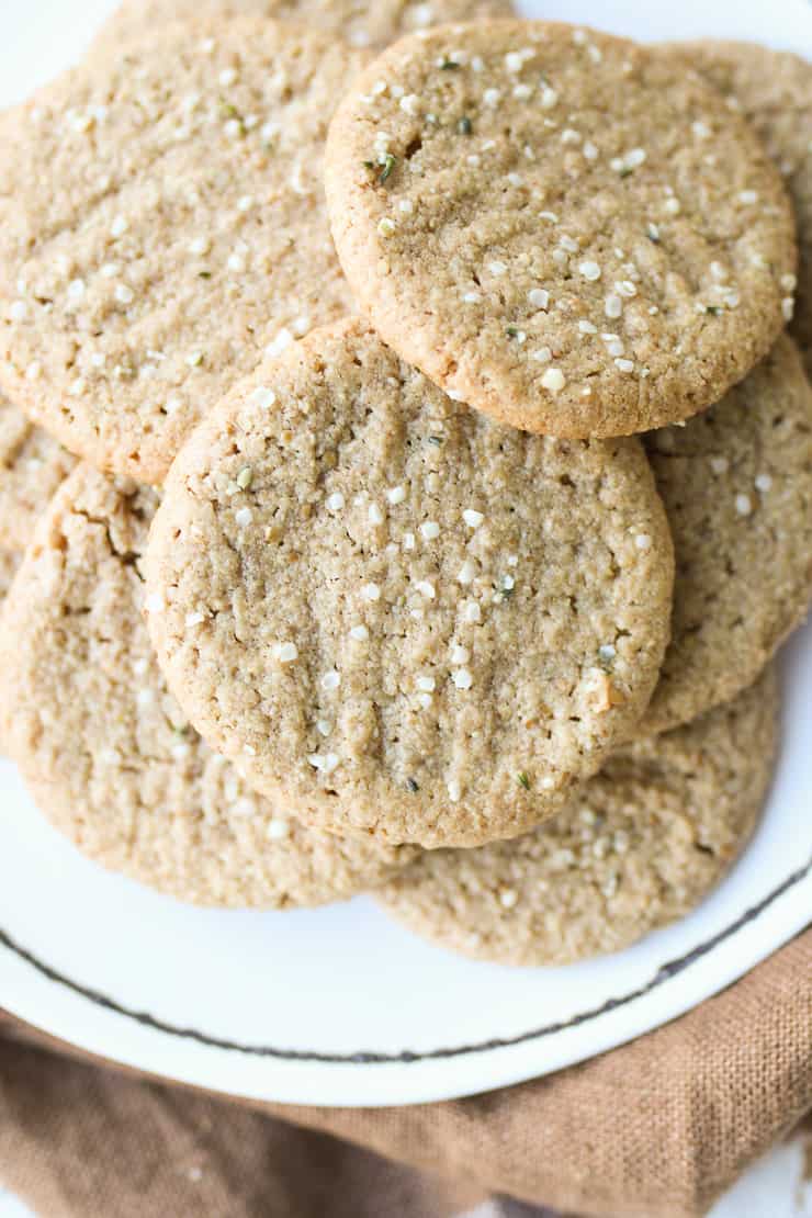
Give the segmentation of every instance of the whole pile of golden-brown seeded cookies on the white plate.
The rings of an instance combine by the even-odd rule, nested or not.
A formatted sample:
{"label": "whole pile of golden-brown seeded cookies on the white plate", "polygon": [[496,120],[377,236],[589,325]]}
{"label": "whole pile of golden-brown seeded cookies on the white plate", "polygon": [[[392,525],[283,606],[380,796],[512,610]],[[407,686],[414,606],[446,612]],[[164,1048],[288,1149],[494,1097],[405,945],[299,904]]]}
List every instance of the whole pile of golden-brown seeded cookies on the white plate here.
{"label": "whole pile of golden-brown seeded cookies on the white plate", "polygon": [[500,0],[170,7],[4,117],[5,749],[181,900],[617,950],[777,753],[812,67]]}

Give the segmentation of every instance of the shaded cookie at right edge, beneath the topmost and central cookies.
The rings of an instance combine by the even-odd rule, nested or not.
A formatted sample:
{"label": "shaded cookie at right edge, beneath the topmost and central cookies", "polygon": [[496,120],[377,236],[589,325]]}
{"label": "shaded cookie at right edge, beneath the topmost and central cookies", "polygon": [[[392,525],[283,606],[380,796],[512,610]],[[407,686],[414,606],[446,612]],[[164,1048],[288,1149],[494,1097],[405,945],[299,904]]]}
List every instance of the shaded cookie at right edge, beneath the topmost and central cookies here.
{"label": "shaded cookie at right edge, beneath the topmost and central cookies", "polygon": [[644,442],[677,559],[644,720],[662,732],[751,685],[810,604],[812,387],[791,339],[717,406]]}

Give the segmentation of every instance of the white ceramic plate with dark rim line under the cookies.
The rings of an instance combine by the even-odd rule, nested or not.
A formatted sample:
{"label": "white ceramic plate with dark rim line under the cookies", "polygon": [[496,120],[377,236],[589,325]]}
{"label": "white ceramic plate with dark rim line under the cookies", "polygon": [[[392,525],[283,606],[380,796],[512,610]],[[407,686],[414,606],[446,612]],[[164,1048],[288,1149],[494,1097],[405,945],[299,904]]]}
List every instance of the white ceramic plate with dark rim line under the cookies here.
{"label": "white ceramic plate with dark rim line under the cookies", "polygon": [[[110,7],[0,6],[0,102],[75,56]],[[803,0],[558,0],[527,15],[638,37],[758,38],[812,56]],[[702,907],[569,968],[475,965],[360,899],[317,912],[185,909],[82,859],[0,764],[0,1004],[156,1074],[264,1100],[391,1105],[485,1091],[622,1044],[735,980],[812,918],[812,628],[785,663],[769,806]]]}

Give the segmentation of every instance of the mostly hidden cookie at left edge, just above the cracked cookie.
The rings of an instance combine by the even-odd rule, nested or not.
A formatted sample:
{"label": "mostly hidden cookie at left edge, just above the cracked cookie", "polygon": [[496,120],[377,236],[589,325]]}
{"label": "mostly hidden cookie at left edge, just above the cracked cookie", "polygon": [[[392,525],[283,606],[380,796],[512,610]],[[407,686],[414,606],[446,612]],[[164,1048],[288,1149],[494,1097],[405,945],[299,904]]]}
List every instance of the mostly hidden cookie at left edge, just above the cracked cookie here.
{"label": "mostly hidden cookie at left edge, just above the cracked cookie", "polygon": [[0,548],[26,548],[74,464],[56,440],[0,397]]}

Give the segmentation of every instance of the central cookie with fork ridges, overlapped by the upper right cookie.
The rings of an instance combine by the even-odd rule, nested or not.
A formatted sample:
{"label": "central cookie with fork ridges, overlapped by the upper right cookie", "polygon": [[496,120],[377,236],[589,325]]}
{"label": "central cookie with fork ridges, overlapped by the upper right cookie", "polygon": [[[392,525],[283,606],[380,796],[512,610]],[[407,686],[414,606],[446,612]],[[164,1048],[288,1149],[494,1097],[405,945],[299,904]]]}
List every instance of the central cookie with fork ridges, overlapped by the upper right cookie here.
{"label": "central cookie with fork ridges, overlapped by the upper right cookie", "polygon": [[175,462],[147,551],[197,730],[309,823],[515,837],[639,721],[672,544],[642,446],[452,402],[364,323],[239,386]]}

